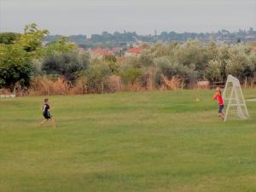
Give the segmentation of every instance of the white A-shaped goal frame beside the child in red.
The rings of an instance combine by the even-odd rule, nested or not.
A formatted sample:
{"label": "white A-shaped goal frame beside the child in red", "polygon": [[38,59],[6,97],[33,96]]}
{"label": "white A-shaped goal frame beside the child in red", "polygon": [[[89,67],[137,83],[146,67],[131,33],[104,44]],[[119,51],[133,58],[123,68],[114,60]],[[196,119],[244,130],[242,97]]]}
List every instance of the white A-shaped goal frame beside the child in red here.
{"label": "white A-shaped goal frame beside the child in red", "polygon": [[[230,92],[230,96],[227,96],[227,89],[229,84],[232,84],[232,89]],[[241,97],[241,100],[239,99],[239,96]],[[228,113],[230,111],[230,107],[232,106],[236,107],[236,112],[238,117],[240,117],[241,119],[248,119],[249,113],[247,110],[247,104],[245,102],[245,99],[241,90],[241,84],[239,80],[232,75],[228,76],[228,79],[225,84],[224,92],[223,92],[223,97],[224,97],[224,100],[228,102],[228,107],[225,112],[224,121],[228,119]],[[244,109],[245,113],[243,113],[242,109]]]}

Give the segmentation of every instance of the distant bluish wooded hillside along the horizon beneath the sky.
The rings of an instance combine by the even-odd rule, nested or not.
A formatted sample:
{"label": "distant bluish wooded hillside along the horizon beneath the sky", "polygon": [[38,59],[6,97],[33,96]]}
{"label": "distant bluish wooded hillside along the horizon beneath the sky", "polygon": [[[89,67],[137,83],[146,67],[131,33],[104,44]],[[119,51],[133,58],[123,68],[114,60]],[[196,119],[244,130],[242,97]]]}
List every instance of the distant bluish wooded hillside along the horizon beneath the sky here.
{"label": "distant bluish wooded hillside along the horizon beneath the sky", "polygon": [[[49,35],[43,40],[47,42],[56,41],[61,38],[61,35]],[[209,40],[215,40],[218,42],[225,42],[229,44],[236,44],[237,42],[253,42],[256,41],[256,31],[253,28],[249,30],[239,30],[238,32],[229,32],[227,30],[221,30],[218,32],[161,32],[154,35],[138,35],[137,32],[102,32],[102,34],[92,34],[90,38],[85,35],[72,35],[68,39],[70,42],[80,44],[84,48],[95,47],[97,44],[105,44],[106,46],[122,44],[127,42],[148,42],[154,43],[157,41],[163,42],[184,42],[189,38],[198,38],[203,42]]]}

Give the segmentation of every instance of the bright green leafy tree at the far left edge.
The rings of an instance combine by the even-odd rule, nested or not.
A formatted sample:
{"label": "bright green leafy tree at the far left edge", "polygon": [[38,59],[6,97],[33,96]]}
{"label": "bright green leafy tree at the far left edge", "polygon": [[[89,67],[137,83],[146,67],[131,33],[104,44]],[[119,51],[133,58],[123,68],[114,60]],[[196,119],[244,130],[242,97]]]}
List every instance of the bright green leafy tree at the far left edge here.
{"label": "bright green leafy tree at the far left edge", "polygon": [[[14,86],[16,82],[29,85],[32,59],[42,55],[42,38],[47,30],[39,30],[36,24],[25,27],[24,33],[13,36],[2,34],[7,41],[0,44],[0,85]],[[15,40],[9,37],[16,37]]]}

